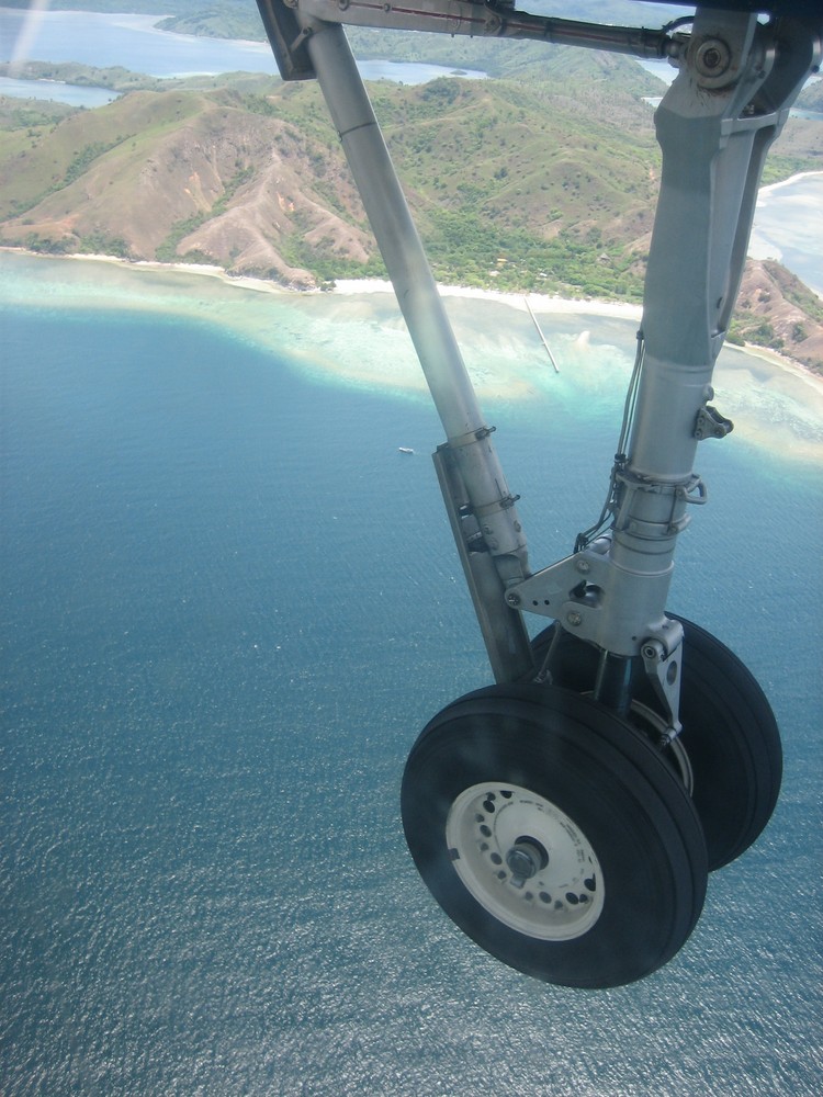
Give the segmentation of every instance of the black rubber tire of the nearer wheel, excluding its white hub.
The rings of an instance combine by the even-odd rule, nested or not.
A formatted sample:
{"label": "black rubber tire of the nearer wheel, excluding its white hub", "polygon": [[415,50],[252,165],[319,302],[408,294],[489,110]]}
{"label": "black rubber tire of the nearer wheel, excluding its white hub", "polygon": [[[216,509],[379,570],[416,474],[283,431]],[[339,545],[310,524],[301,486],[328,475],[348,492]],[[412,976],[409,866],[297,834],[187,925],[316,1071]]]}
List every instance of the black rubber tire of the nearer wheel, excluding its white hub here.
{"label": "black rubber tire of the nearer wheel, excluding its white hub", "polygon": [[[543,798],[585,834],[604,895],[585,932],[564,940],[521,932],[464,885],[446,828],[458,798],[484,782]],[[449,705],[409,755],[401,806],[418,871],[449,917],[492,955],[544,982],[597,988],[642,979],[675,955],[700,916],[706,846],[681,782],[640,733],[572,691],[494,686]]]}

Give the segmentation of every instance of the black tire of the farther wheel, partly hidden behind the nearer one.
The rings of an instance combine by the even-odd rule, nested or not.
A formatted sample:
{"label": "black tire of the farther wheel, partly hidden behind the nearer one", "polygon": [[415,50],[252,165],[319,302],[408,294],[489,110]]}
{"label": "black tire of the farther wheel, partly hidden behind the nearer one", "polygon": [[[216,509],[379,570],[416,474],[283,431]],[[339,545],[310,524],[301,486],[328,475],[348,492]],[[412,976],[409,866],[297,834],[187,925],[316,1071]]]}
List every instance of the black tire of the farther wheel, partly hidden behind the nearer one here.
{"label": "black tire of the farther wheel, partly hidden behind the nearer one", "polygon": [[[737,656],[694,622],[668,615],[684,629],[680,743],[691,762],[692,800],[713,871],[744,853],[771,818],[782,777],[780,733],[766,694]],[[555,627],[533,642],[540,661]],[[597,661],[590,645],[563,632],[553,656],[552,681],[587,692]],[[635,695],[659,710],[642,676]]]}

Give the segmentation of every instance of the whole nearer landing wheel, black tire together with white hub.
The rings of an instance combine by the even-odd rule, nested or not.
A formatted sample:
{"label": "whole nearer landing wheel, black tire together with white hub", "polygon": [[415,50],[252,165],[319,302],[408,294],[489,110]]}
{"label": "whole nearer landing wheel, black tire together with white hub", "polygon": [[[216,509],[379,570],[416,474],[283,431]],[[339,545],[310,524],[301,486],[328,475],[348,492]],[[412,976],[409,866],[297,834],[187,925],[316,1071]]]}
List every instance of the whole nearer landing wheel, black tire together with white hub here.
{"label": "whole nearer landing wheel, black tire together with white hub", "polygon": [[634,982],[700,916],[706,846],[681,782],[629,724],[572,691],[493,686],[448,705],[409,755],[401,806],[449,917],[544,982]]}

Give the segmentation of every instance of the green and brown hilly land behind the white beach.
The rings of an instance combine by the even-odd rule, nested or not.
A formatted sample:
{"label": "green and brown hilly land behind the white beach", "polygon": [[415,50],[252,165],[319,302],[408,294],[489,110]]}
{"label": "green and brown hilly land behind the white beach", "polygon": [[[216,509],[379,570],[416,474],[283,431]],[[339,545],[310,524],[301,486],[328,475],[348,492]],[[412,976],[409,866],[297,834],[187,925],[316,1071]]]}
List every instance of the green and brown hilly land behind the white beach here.
{"label": "green and brown hilly land behind the white beach", "polygon": [[[652,110],[631,61],[582,56],[584,69],[551,83],[371,86],[441,282],[641,298],[659,174]],[[298,287],[385,274],[313,82],[30,75],[132,90],[93,111],[0,100],[0,244],[216,263]],[[820,126],[805,125],[788,127],[773,172],[820,163],[808,137]],[[746,335],[816,361],[804,358],[820,328],[808,309],[760,324],[757,303],[774,310],[789,292],[771,282],[751,295]]]}

